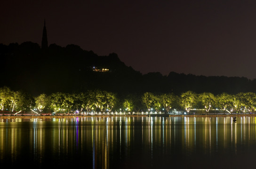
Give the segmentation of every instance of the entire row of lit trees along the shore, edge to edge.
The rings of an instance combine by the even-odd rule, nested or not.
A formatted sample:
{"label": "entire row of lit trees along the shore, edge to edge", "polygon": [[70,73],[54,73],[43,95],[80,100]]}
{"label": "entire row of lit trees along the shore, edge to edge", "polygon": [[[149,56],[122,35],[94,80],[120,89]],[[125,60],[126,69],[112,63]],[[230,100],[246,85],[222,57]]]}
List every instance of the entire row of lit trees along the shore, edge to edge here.
{"label": "entire row of lit trees along the shore, edge to edge", "polygon": [[55,113],[71,112],[140,112],[155,111],[168,113],[171,109],[180,109],[190,112],[191,109],[200,109],[209,112],[218,109],[232,112],[255,112],[256,94],[253,92],[238,93],[235,95],[222,93],[214,95],[209,92],[197,94],[184,92],[180,96],[173,93],[154,94],[145,92],[142,96],[127,97],[119,100],[112,92],[101,90],[62,93],[50,95],[40,94],[32,97],[26,92],[12,91],[8,87],[0,88],[0,110],[2,112],[20,112],[31,110],[42,113],[44,110]]}

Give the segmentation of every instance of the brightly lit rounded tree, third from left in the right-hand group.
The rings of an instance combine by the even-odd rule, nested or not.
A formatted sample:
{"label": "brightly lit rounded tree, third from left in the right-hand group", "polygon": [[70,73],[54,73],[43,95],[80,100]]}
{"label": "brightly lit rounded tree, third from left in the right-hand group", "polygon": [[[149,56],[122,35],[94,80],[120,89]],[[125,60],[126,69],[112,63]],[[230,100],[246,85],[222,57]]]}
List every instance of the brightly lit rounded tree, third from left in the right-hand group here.
{"label": "brightly lit rounded tree, third from left in the right-hand group", "polygon": [[191,108],[196,103],[196,93],[188,91],[181,94],[180,97],[180,105],[182,108],[184,108],[187,113],[191,110]]}

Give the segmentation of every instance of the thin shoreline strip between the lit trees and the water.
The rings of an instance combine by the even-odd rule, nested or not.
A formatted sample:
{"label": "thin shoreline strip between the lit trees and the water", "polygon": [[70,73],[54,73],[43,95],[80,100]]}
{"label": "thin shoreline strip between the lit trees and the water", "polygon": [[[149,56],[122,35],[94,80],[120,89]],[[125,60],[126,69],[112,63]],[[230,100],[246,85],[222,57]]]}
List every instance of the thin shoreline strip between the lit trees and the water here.
{"label": "thin shoreline strip between the lit trees and the water", "polygon": [[252,116],[256,114],[244,115],[0,115],[0,118],[67,118],[67,117],[229,117],[229,116]]}

